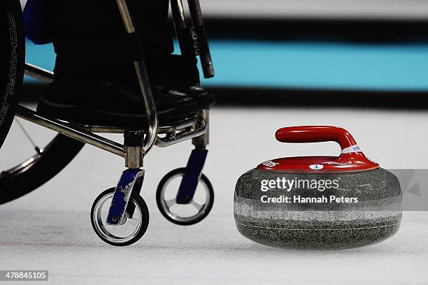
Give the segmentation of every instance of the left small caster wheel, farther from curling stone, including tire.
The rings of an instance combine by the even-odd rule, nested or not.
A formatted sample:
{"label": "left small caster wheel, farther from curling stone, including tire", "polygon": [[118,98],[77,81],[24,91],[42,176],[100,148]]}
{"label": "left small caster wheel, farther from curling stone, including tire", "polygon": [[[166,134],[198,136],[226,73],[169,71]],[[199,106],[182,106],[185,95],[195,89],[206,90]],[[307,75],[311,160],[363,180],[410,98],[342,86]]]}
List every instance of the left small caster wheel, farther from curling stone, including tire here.
{"label": "left small caster wheel, farther from curling stone, including tire", "polygon": [[[139,240],[148,228],[149,212],[143,198],[139,195],[131,195],[129,205],[135,207],[134,214],[129,217],[125,212],[124,221],[117,225],[107,224],[108,210],[113,200],[114,188],[110,188],[95,199],[91,209],[91,223],[95,233],[107,242],[115,246],[126,246]],[[131,204],[132,203],[132,204]]]}

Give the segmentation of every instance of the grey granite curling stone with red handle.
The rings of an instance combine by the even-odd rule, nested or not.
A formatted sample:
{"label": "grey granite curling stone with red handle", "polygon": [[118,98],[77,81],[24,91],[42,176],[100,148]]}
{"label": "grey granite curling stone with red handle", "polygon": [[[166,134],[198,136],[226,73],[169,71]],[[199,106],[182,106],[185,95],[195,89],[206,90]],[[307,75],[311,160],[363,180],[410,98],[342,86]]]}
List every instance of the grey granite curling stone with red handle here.
{"label": "grey granite curling stone with red handle", "polygon": [[338,142],[339,156],[273,159],[239,177],[234,194],[238,231],[250,240],[293,249],[343,249],[397,233],[399,180],[366,158],[335,126],[276,131],[280,142]]}

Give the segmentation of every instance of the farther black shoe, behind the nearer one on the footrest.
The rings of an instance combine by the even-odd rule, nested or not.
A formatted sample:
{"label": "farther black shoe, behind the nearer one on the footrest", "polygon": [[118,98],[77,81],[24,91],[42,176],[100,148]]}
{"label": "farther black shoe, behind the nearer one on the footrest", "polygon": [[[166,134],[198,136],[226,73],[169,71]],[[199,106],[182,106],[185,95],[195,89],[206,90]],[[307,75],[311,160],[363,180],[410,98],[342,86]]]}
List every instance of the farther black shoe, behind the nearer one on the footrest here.
{"label": "farther black shoe, behind the nearer one on the footrest", "polygon": [[153,85],[164,85],[168,89],[183,92],[194,98],[201,109],[215,104],[215,95],[199,84],[196,60],[169,54],[162,58],[149,59],[147,63]]}

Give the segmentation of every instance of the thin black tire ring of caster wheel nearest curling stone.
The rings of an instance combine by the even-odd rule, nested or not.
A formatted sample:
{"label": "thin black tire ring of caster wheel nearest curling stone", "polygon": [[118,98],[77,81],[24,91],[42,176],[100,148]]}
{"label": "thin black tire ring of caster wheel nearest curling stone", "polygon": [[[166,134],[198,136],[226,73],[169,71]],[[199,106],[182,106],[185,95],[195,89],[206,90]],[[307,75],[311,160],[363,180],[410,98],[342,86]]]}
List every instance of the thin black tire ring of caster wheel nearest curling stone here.
{"label": "thin black tire ring of caster wheel nearest curling stone", "polygon": [[210,196],[209,202],[208,202],[204,212],[201,212],[201,214],[199,214],[195,219],[191,219],[190,221],[178,221],[178,220],[173,219],[172,217],[169,216],[169,214],[164,210],[164,207],[162,207],[162,199],[163,199],[162,189],[164,187],[166,187],[166,184],[169,182],[169,179],[171,177],[176,176],[176,175],[183,176],[185,171],[186,171],[186,168],[177,168],[177,169],[172,170],[171,172],[167,173],[162,178],[161,182],[159,182],[159,185],[158,185],[157,191],[156,191],[156,203],[157,203],[157,207],[158,207],[159,211],[161,212],[162,216],[164,216],[165,219],[167,219],[168,221],[171,221],[171,223],[177,224],[180,226],[190,226],[190,225],[199,223],[199,221],[202,221],[203,219],[205,219],[208,216],[208,214],[211,212],[211,209],[213,208],[213,204],[214,204],[213,185],[211,184],[210,180],[208,180],[208,177],[206,177],[204,174],[202,174],[199,182],[202,181],[206,185],[206,191],[208,191],[208,195]]}

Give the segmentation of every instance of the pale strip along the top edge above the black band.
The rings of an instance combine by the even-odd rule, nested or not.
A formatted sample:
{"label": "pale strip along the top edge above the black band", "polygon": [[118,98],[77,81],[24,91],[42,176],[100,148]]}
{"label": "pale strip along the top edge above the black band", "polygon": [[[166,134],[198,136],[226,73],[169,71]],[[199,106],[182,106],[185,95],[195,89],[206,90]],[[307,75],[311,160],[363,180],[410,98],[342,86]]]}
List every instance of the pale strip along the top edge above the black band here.
{"label": "pale strip along the top edge above the black band", "polygon": [[[22,6],[27,0],[20,0]],[[185,3],[186,1],[183,1]],[[206,17],[427,20],[427,0],[200,0]]]}

